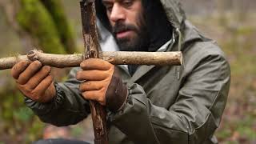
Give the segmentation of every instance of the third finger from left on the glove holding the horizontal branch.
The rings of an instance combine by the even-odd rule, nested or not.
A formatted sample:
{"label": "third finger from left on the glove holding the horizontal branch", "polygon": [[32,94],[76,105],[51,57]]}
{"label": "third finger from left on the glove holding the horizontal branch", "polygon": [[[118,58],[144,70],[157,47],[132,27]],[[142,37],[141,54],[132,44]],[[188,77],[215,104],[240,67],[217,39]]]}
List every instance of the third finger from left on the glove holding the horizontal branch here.
{"label": "third finger from left on the glove holding the horizontal branch", "polygon": [[39,70],[37,74],[34,74],[34,76],[26,83],[27,88],[34,90],[34,88],[50,74],[50,70],[50,66],[43,66],[42,69]]}

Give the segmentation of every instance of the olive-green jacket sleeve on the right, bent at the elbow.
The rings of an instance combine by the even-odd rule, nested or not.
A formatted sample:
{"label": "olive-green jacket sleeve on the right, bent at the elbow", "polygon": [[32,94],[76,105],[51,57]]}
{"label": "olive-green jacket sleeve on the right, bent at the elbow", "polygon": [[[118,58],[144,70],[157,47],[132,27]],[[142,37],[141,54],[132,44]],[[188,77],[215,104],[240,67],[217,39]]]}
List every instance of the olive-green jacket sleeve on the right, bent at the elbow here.
{"label": "olive-green jacket sleeve on the right, bent at the elbow", "polygon": [[210,142],[218,127],[230,86],[230,66],[208,55],[187,75],[169,109],[155,106],[138,84],[130,86],[126,105],[111,122],[135,143]]}

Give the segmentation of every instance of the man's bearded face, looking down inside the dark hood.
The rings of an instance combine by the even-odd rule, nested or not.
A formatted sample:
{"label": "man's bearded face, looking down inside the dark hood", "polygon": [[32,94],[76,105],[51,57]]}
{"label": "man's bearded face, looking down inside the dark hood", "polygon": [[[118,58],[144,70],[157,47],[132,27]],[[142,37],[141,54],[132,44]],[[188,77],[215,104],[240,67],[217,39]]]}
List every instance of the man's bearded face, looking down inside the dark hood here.
{"label": "man's bearded face, looking down inside the dark hood", "polygon": [[137,50],[145,35],[142,0],[102,0],[112,26],[112,33],[121,50]]}

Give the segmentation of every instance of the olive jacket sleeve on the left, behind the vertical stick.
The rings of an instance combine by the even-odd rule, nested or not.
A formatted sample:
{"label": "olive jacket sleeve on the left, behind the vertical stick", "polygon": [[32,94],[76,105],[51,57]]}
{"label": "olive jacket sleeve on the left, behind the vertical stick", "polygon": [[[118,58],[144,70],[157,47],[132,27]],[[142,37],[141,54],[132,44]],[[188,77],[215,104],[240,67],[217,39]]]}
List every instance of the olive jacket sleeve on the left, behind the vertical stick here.
{"label": "olive jacket sleeve on the left, behind the vertical stick", "polygon": [[79,68],[71,70],[66,82],[54,83],[57,93],[51,102],[39,103],[25,98],[26,105],[42,122],[68,126],[82,121],[90,113],[89,102],[82,98],[78,90],[80,82],[75,79],[78,70]]}

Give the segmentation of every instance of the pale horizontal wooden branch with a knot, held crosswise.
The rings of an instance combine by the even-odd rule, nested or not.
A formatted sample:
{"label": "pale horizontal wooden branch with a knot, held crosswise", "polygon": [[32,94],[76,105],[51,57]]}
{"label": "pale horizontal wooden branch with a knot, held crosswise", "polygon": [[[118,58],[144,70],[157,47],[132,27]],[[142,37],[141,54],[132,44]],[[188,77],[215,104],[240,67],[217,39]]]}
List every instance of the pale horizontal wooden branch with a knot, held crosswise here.
{"label": "pale horizontal wooden branch with a knot, held crosswise", "polygon": [[[114,65],[182,65],[182,52],[104,51],[100,52],[99,57]],[[38,60],[43,65],[58,68],[76,67],[82,62],[82,54],[45,54],[38,50],[31,50],[27,55],[0,58],[0,70],[10,69],[22,60]]]}

